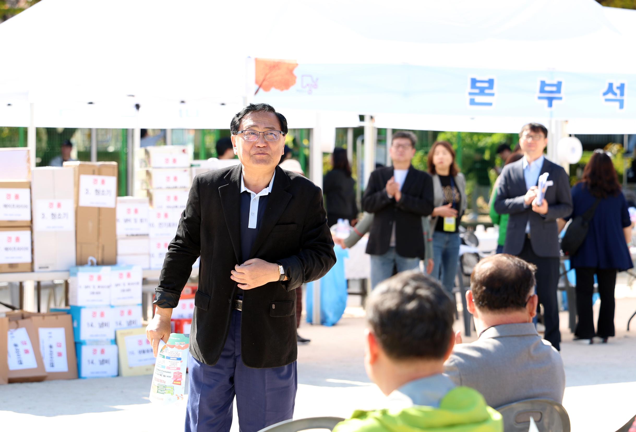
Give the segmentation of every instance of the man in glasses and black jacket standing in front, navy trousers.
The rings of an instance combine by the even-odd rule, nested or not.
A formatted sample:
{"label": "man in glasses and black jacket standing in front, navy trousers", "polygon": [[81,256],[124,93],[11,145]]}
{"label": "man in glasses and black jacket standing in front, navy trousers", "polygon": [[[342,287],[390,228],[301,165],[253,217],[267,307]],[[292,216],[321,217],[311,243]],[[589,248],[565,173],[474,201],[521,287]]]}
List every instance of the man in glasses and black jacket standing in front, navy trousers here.
{"label": "man in glasses and black jacket standing in front, navy trousers", "polygon": [[186,431],[229,431],[234,396],[244,432],[292,418],[294,289],[319,279],[336,261],[321,189],[277,167],[285,117],[267,104],[249,104],[230,131],[241,165],[193,179],[146,329],[156,355],[200,256]]}

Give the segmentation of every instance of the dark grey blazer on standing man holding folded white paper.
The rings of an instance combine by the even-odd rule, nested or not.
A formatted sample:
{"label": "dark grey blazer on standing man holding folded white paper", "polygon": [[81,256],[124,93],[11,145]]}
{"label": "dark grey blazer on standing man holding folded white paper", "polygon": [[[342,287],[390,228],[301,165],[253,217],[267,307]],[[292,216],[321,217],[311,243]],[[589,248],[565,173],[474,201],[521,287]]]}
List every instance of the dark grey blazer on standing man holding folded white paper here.
{"label": "dark grey blazer on standing man holding folded white paper", "polygon": [[[530,244],[537,256],[560,256],[558,227],[556,218],[565,218],[572,213],[572,195],[570,178],[567,173],[554,162],[543,160],[541,174],[548,172],[548,181],[554,184],[546,189],[548,213],[545,216],[532,211],[532,206],[525,207],[523,198],[528,190],[525,188],[523,176],[523,158],[504,167],[497,186],[495,211],[499,214],[510,214],[506,228],[506,244],[504,253],[518,255],[525,242],[525,227],[530,221]],[[539,175],[541,175],[539,174]]]}

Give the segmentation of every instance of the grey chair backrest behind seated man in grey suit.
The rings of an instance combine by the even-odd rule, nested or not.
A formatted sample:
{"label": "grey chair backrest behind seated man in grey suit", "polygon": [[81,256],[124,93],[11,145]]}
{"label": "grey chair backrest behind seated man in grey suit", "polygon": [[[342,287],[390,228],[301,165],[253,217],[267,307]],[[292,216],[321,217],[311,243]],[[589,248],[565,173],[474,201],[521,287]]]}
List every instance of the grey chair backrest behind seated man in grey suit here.
{"label": "grey chair backrest behind seated man in grey suit", "polygon": [[504,418],[504,432],[528,432],[530,416],[539,432],[570,432],[565,408],[550,399],[526,399],[496,409]]}

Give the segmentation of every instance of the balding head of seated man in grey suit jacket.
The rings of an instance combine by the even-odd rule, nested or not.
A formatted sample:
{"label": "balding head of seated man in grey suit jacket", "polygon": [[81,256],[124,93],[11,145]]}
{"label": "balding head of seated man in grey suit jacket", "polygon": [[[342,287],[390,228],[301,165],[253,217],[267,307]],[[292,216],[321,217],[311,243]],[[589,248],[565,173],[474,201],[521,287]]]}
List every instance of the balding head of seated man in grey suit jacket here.
{"label": "balding head of seated man in grey suit jacket", "polygon": [[504,253],[477,263],[466,301],[478,333],[499,324],[532,322],[539,301],[534,293],[536,269],[521,258]]}

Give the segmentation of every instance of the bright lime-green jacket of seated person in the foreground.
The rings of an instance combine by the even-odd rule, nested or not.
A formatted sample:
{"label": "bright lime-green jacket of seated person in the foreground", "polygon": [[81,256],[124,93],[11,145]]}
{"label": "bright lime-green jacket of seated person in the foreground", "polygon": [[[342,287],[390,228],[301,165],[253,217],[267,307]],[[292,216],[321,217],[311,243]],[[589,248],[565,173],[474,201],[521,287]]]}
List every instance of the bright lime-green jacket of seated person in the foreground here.
{"label": "bright lime-green jacket of seated person in the foreground", "polygon": [[397,412],[387,409],[355,411],[349,420],[336,424],[333,432],[502,432],[501,414],[486,405],[470,387],[455,387],[439,408],[413,405]]}

